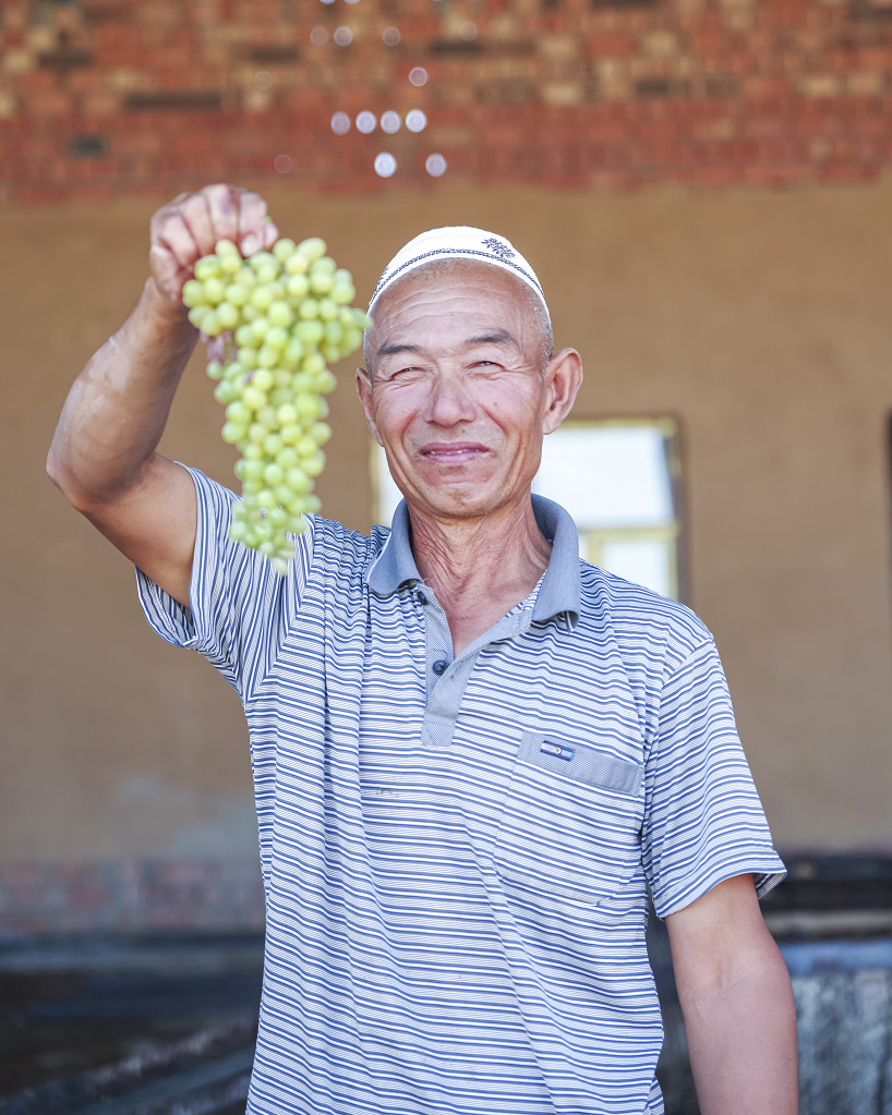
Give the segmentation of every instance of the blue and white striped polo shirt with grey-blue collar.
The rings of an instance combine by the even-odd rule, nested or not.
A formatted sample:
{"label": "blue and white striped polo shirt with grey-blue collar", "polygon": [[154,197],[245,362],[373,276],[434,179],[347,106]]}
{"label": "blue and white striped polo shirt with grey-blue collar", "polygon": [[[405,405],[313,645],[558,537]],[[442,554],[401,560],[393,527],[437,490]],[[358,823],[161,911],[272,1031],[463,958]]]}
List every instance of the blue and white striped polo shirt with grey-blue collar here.
{"label": "blue and white striped polo shirt with grey-blue collar", "polygon": [[715,646],[579,559],[556,504],[536,591],[458,656],[405,505],[313,517],[285,576],[193,473],[191,608],[250,729],[266,947],[252,1115],[642,1115],[660,1010],[644,944],[724,879],[783,878]]}

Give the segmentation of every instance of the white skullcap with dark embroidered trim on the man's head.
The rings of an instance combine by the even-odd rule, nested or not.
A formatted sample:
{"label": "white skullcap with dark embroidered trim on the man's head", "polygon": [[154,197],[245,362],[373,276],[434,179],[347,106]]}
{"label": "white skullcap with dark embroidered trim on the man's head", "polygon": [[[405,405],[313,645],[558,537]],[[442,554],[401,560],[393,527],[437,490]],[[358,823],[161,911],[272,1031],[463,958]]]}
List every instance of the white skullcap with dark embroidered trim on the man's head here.
{"label": "white skullcap with dark embroidered trim on the man's head", "polygon": [[[545,317],[549,308],[542,285],[536,273],[521,255],[517,249],[504,236],[485,229],[472,229],[465,224],[447,225],[444,229],[430,229],[410,240],[401,248],[384,269],[375,293],[369,302],[369,313],[376,301],[387,290],[390,283],[414,271],[416,268],[430,263],[433,260],[477,260],[481,263],[492,263],[494,266],[508,271],[531,287],[539,295]],[[549,318],[549,320],[551,320]]]}

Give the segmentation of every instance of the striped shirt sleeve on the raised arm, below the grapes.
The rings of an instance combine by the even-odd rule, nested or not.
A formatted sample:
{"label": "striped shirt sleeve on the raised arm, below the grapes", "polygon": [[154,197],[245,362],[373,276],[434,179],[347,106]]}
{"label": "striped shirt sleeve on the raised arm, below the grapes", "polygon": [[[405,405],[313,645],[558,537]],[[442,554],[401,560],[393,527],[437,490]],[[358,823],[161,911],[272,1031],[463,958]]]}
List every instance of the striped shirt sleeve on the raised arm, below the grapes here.
{"label": "striped shirt sleeve on the raised arm, below the grapes", "polygon": [[190,607],[137,569],[139,602],[162,639],[204,655],[246,701],[297,611],[312,560],[312,521],[298,536],[294,561],[281,576],[265,558],[230,540],[235,493],[197,469],[188,472],[198,505]]}

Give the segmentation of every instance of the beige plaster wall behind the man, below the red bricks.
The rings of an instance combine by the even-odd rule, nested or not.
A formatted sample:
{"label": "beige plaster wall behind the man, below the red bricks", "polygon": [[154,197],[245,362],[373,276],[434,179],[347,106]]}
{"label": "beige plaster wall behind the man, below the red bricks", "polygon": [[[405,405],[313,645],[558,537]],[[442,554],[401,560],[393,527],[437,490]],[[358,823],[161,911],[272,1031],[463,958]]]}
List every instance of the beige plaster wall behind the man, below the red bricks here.
{"label": "beige plaster wall behind the man, below the red bricks", "polygon": [[[164,200],[0,212],[7,861],[254,850],[236,698],[148,631],[132,569],[43,474],[70,380],[138,294]],[[690,601],[723,652],[776,840],[891,849],[892,182],[270,201],[285,232],[326,236],[363,293],[426,226],[517,242],[558,342],[585,360],[574,417],[680,419]],[[368,440],[342,370],[319,491],[327,514],[367,529]],[[196,361],[163,447],[225,481],[211,390]]]}

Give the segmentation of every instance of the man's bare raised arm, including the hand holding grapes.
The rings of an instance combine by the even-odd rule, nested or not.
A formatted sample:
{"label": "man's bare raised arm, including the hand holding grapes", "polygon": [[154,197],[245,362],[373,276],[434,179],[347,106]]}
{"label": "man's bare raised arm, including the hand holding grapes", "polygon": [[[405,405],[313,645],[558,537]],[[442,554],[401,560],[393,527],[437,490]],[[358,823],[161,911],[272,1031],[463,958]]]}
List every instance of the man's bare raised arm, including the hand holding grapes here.
{"label": "man's bare raised arm, including the hand holding grapes", "polygon": [[197,339],[183,283],[219,240],[245,255],[271,246],[278,231],[265,216],[261,197],[227,185],[181,194],[154,215],[143,294],[75,381],[47,460],[71,505],[184,605],[195,489],[185,469],[156,452]]}

